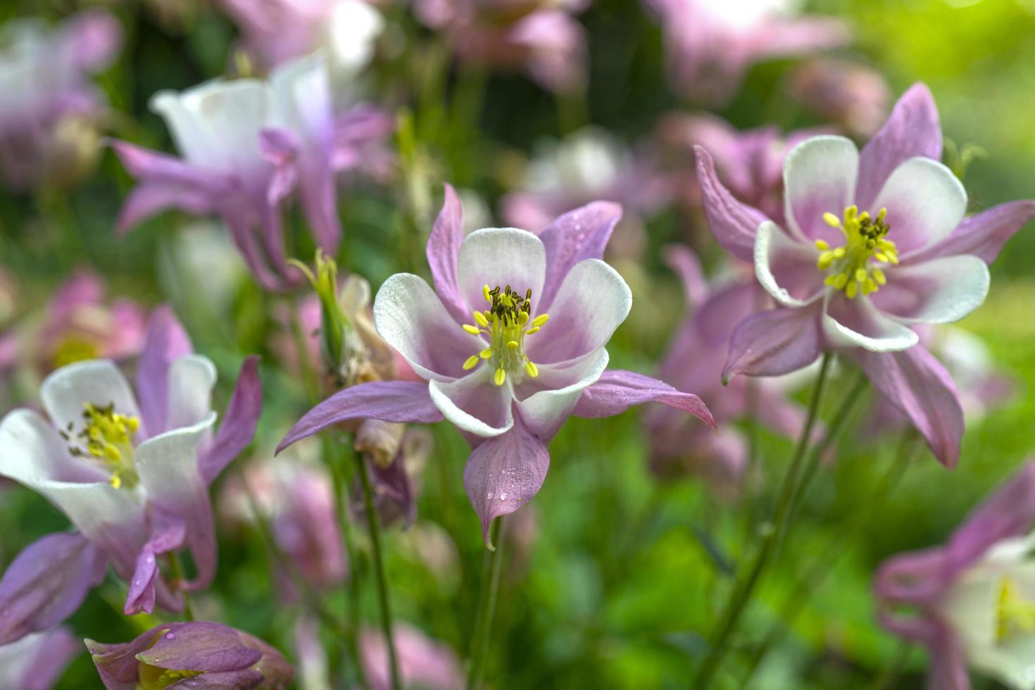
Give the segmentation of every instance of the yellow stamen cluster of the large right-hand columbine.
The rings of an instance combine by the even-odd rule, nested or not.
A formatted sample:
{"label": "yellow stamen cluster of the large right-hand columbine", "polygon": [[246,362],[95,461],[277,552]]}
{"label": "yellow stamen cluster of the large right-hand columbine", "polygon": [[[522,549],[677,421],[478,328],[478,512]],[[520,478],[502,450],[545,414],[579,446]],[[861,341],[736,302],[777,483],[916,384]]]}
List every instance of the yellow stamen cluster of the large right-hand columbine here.
{"label": "yellow stamen cluster of the large right-hand columbine", "polygon": [[877,264],[897,264],[898,249],[895,243],[885,239],[890,228],[884,221],[887,209],[881,209],[877,217],[855,206],[845,209],[844,218],[833,213],[824,213],[823,219],[831,228],[837,228],[845,235],[845,244],[835,249],[823,240],[816,240],[820,249],[817,268],[827,271],[824,282],[834,290],[844,291],[849,299],[876,293],[887,282],[884,271]]}

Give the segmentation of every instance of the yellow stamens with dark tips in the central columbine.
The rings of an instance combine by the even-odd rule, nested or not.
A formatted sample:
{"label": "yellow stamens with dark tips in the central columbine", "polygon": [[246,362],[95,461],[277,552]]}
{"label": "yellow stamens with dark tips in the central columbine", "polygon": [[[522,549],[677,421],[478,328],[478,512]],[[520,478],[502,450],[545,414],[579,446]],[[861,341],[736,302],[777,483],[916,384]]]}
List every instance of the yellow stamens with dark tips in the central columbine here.
{"label": "yellow stamens with dark tips in the central columbine", "polygon": [[550,314],[540,313],[529,321],[532,310],[531,290],[522,296],[520,292],[511,290],[510,286],[504,290],[500,290],[499,286],[490,290],[485,286],[482,294],[489,302],[489,308],[475,311],[474,322],[477,325],[465,324],[464,330],[472,335],[485,334],[489,347],[468,357],[464,368],[473,369],[479,361],[489,360],[489,365],[496,369],[493,382],[497,386],[504,384],[507,373],[519,382],[526,373],[533,379],[539,376],[539,368],[524,352],[525,336],[537,332],[539,327],[550,321]]}

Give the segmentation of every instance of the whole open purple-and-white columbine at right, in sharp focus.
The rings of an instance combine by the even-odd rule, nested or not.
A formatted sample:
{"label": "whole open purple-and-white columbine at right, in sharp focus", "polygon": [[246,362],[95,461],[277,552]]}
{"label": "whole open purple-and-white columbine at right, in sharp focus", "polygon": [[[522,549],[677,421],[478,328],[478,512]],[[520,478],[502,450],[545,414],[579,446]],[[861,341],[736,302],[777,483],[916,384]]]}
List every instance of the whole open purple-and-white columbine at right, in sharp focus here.
{"label": "whole open purple-and-white columbine at right, in sharp focus", "polygon": [[815,137],[783,163],[786,226],[737,201],[699,150],[709,223],[780,306],[734,332],[723,378],[778,376],[844,350],[952,466],[963,411],[917,325],[970,313],[988,290],[986,264],[1035,215],[1035,202],[964,217],[967,193],[938,161],[942,133],[922,84],[896,103],[862,152]]}

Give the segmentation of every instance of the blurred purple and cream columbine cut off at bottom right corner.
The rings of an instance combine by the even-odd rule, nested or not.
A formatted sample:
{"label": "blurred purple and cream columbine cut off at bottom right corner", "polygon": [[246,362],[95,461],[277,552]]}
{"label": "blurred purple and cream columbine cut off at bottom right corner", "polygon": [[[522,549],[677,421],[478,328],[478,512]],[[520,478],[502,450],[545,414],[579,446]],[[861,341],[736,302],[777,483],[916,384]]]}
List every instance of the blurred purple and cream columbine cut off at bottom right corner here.
{"label": "blurred purple and cream columbine cut off at bottom right corner", "polygon": [[968,665],[1015,690],[1035,688],[1033,521],[1029,461],[944,546],[881,566],[875,584],[881,622],[927,646],[931,690],[970,690]]}

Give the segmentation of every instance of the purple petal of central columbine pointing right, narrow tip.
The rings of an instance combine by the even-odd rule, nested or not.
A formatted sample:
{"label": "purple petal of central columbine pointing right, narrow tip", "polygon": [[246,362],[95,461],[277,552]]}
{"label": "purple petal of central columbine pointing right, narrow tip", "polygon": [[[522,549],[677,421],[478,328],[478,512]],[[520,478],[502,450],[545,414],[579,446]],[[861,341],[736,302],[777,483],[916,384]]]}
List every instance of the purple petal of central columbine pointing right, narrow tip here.
{"label": "purple petal of central columbine pointing right, narrow tip", "polygon": [[612,417],[644,402],[660,402],[682,410],[716,428],[707,406],[697,395],[676,390],[657,379],[621,369],[604,371],[595,384],[584,390],[572,414],[589,418]]}

